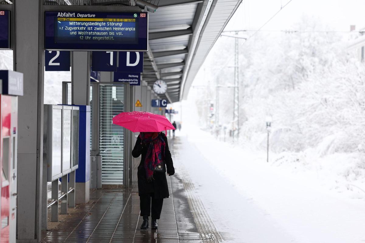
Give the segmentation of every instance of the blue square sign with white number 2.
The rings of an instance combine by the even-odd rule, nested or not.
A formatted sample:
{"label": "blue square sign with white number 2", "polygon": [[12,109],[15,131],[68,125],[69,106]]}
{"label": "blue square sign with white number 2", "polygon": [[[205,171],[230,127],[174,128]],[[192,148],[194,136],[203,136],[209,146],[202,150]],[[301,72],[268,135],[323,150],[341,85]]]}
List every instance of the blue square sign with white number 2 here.
{"label": "blue square sign with white number 2", "polygon": [[70,71],[69,51],[45,50],[46,71]]}

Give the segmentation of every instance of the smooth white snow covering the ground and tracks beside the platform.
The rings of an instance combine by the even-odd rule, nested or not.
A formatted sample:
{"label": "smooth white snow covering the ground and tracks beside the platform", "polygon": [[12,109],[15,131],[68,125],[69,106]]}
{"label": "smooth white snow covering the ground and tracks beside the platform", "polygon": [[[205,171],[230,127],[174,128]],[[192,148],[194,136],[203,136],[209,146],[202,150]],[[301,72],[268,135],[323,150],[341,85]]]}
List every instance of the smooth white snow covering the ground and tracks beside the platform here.
{"label": "smooth white snow covering the ground and tracks beside the platform", "polygon": [[[245,198],[244,200],[249,200],[258,207],[276,227],[292,236],[289,237],[290,241],[285,237],[271,242],[365,241],[365,202],[364,196],[360,196],[364,193],[361,189],[364,185],[363,180],[354,180],[350,185],[346,176],[358,176],[360,172],[351,171],[351,165],[343,163],[349,160],[356,161],[356,155],[332,154],[319,160],[311,161],[310,158],[306,158],[306,161],[311,162],[296,164],[296,157],[310,153],[274,154],[273,160],[267,163],[264,151],[245,150],[228,142],[218,141],[209,133],[193,127],[188,130],[189,132],[185,133],[185,142],[188,143],[185,148],[197,148],[206,165],[214,168],[219,175],[217,180],[228,183],[235,192]],[[177,133],[178,135],[184,136],[182,133]],[[189,154],[188,151],[181,153]],[[193,157],[191,154],[190,160],[194,161]],[[186,164],[187,160],[182,162]],[[200,176],[207,180],[210,178],[210,175],[204,172],[200,172]],[[200,180],[200,183],[201,180],[204,181],[201,178],[192,180]],[[354,191],[354,188],[357,188],[357,191]],[[202,192],[204,190],[201,188]],[[224,190],[225,188],[219,188],[217,193]],[[228,196],[226,200],[229,199]],[[215,199],[212,200],[214,205]],[[242,201],[242,205],[245,205],[245,202]],[[236,210],[241,210],[243,217],[248,213],[251,218],[255,218],[249,212],[245,212],[245,207]],[[250,222],[244,220],[244,224]],[[253,223],[253,231],[257,230],[257,225],[257,222]],[[262,234],[265,234],[265,231],[262,231]],[[251,237],[249,241],[242,242],[265,242],[265,239],[257,235],[256,239]]]}

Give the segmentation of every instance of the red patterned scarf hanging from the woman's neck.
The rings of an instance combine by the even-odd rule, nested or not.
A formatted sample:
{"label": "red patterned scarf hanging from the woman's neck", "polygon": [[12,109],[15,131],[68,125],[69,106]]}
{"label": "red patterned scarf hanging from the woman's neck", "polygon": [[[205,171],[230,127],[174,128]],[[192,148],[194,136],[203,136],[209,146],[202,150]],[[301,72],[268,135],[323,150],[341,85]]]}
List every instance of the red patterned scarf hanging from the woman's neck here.
{"label": "red patterned scarf hanging from the woman's neck", "polygon": [[165,140],[161,133],[141,132],[139,137],[142,140],[142,144],[147,146],[145,170],[147,181],[150,181],[153,179],[153,171],[156,165],[165,160]]}

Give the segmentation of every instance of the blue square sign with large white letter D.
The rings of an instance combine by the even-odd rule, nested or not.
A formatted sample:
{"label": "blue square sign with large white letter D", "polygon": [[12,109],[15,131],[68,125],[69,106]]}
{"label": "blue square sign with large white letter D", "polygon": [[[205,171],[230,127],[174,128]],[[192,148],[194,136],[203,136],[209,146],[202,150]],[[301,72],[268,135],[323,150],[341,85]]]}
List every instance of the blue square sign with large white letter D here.
{"label": "blue square sign with large white letter D", "polygon": [[119,52],[118,72],[143,72],[143,52]]}

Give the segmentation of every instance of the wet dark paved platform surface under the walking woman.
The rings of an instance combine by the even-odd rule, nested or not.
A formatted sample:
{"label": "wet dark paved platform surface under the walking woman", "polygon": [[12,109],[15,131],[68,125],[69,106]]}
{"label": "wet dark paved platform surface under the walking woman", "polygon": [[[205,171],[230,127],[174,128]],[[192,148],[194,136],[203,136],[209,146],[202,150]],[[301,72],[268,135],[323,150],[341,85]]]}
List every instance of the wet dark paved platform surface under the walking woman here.
{"label": "wet dark paved platform surface under the walking woman", "polygon": [[[171,149],[173,141],[170,144]],[[171,150],[175,161],[178,153]],[[43,231],[42,242],[222,242],[203,203],[193,193],[187,172],[179,171],[167,179],[170,198],[164,199],[158,230],[139,229],[142,217],[134,183],[131,188],[91,190],[91,202],[77,205],[57,227]]]}

